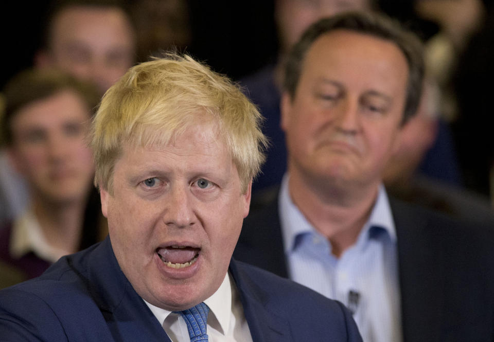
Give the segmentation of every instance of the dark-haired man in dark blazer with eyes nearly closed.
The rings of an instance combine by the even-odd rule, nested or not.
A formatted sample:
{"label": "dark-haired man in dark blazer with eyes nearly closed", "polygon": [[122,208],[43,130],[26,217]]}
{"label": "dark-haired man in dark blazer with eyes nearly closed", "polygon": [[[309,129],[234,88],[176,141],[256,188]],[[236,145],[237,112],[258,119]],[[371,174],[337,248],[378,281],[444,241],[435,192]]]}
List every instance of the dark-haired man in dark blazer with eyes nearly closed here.
{"label": "dark-haired man in dark blazer with eyes nearly closed", "polygon": [[384,16],[309,27],[281,100],[288,172],[234,256],[346,303],[368,342],[490,341],[491,230],[390,201],[382,186],[423,68],[418,40]]}

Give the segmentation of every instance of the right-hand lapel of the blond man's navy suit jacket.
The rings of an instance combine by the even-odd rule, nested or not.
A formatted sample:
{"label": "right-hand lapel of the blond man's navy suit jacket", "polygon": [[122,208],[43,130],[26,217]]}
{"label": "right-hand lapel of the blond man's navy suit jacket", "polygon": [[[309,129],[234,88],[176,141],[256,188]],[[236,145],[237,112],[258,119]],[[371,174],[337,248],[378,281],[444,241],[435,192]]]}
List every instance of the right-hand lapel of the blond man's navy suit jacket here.
{"label": "right-hand lapel of the blond man's navy suit jacket", "polygon": [[293,338],[290,325],[284,317],[269,311],[266,306],[269,296],[249,280],[236,266],[235,260],[230,263],[230,273],[235,280],[237,291],[243,306],[245,319],[253,341],[287,342]]}

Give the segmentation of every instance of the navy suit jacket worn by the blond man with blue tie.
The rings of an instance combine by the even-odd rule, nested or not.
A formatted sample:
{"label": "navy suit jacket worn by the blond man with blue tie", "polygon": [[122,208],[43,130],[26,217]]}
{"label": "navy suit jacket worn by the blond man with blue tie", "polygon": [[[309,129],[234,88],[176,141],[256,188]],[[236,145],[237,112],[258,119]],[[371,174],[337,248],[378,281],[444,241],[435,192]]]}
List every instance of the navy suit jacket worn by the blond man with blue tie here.
{"label": "navy suit jacket worn by the blond man with blue tie", "polygon": [[[254,341],[361,341],[341,303],[232,260]],[[0,291],[1,341],[170,341],[120,271],[110,240]]]}

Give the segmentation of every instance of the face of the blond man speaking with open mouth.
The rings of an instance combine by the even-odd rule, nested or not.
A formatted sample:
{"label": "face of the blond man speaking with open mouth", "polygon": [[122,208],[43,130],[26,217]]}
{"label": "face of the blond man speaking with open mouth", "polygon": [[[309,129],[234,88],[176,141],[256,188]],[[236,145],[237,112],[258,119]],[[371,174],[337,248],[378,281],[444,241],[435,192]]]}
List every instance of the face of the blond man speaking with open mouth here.
{"label": "face of the blond man speaking with open mouth", "polygon": [[223,281],[250,186],[240,178],[212,124],[197,124],[166,146],[123,147],[113,194],[102,211],[123,273],[136,292],[167,310],[184,310]]}

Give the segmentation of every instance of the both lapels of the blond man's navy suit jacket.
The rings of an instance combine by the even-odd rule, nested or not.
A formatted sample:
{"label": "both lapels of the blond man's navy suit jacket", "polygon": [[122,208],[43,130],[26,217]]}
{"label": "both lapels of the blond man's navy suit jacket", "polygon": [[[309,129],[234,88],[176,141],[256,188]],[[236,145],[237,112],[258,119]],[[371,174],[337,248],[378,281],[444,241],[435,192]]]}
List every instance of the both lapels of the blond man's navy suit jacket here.
{"label": "both lapels of the blond man's navy suit jacket", "polygon": [[[120,271],[110,240],[101,243],[91,255],[92,296],[107,321],[115,341],[171,342],[146,303]],[[105,260],[105,263],[101,263]],[[231,274],[237,286],[244,315],[254,341],[286,342],[293,340],[288,321],[266,309],[269,296],[237,271],[232,260]]]}

